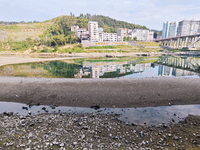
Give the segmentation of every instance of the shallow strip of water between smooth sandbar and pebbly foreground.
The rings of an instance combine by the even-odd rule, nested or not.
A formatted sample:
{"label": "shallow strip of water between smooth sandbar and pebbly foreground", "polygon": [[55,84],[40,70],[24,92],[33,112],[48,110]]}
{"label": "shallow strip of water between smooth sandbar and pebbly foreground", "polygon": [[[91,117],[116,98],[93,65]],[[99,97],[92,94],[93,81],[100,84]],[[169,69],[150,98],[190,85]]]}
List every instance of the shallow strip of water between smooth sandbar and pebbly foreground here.
{"label": "shallow strip of water between smooth sandbar and pebbly foreground", "polygon": [[[22,109],[27,107],[28,110]],[[46,110],[42,110],[45,107]],[[66,113],[95,113],[101,114],[120,114],[119,120],[124,123],[137,124],[147,126],[159,125],[165,123],[169,125],[171,123],[177,123],[181,119],[188,116],[188,114],[199,115],[200,105],[174,105],[174,106],[161,106],[161,107],[146,107],[146,108],[100,108],[94,110],[91,108],[82,107],[65,107],[59,106],[52,109],[49,106],[33,106],[29,108],[25,104],[12,103],[12,102],[0,102],[0,113],[3,112],[14,112],[19,115],[27,115],[31,111],[32,115],[39,113],[53,112],[66,112]]]}

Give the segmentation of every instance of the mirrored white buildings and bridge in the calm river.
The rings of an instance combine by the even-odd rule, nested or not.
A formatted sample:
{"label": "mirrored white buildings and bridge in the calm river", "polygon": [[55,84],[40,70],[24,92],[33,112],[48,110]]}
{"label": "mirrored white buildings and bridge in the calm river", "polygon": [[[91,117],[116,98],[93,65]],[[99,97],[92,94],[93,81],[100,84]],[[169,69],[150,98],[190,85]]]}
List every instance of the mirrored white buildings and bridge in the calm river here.
{"label": "mirrored white buildings and bridge in the calm river", "polygon": [[[156,71],[156,76],[193,76],[198,75],[195,70],[198,69],[200,61],[195,58],[160,58],[157,63],[137,64],[137,61],[124,62],[84,62],[83,67],[75,75],[76,78],[100,78],[105,77],[106,73],[113,73],[109,77],[126,76],[128,74],[142,73],[151,66],[158,67],[151,71]],[[158,71],[158,72],[157,72]]]}

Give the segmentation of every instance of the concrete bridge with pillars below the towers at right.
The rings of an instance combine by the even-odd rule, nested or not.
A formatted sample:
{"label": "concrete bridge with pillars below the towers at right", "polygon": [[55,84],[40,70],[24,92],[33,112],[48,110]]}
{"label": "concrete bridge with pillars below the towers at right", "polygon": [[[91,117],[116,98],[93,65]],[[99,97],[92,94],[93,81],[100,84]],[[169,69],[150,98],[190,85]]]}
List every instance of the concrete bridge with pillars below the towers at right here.
{"label": "concrete bridge with pillars below the towers at right", "polygon": [[161,46],[173,49],[193,49],[200,46],[200,34],[170,37],[155,40]]}

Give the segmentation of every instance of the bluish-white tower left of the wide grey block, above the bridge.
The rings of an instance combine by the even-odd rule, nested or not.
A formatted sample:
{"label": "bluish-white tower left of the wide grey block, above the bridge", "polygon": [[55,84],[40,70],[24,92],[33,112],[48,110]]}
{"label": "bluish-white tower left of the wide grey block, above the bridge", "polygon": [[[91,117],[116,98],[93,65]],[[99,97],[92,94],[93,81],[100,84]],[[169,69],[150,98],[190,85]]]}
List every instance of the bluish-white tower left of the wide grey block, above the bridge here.
{"label": "bluish-white tower left of the wide grey block, above the bridge", "polygon": [[177,22],[164,22],[162,30],[162,38],[176,37],[178,29]]}

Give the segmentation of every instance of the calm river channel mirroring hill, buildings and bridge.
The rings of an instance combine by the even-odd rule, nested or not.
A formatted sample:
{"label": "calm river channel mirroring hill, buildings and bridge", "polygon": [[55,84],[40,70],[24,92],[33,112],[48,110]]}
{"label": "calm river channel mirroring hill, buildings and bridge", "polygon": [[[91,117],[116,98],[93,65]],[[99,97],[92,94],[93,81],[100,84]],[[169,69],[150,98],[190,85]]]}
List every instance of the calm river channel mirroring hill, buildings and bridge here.
{"label": "calm river channel mirroring hill, buildings and bridge", "polygon": [[2,76],[45,78],[199,77],[200,59],[187,57],[134,58],[133,60],[63,60],[0,67]]}

